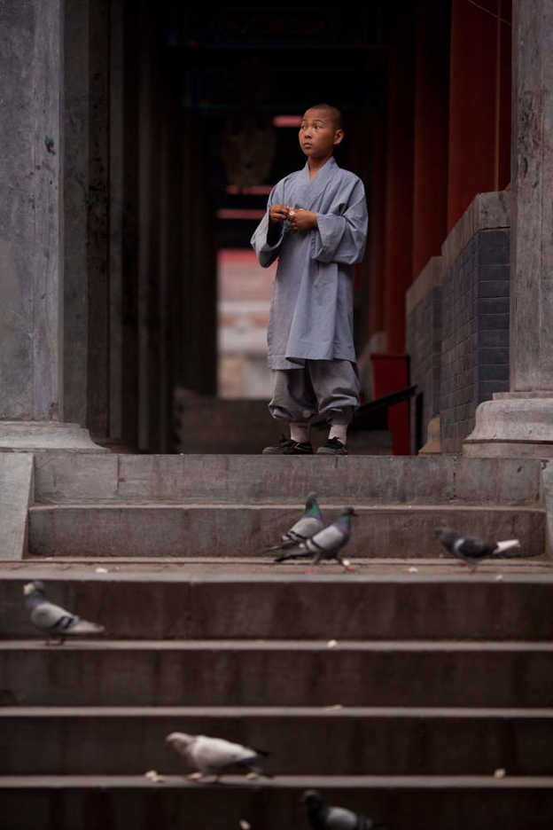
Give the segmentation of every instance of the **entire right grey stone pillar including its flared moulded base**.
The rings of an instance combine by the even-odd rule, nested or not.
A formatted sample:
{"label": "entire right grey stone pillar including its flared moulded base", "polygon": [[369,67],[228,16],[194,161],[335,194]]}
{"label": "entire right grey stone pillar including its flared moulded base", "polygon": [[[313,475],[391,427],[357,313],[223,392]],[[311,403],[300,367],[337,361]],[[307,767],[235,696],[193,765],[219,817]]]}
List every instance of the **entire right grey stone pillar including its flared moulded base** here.
{"label": "entire right grey stone pillar including its flared moulded base", "polygon": [[476,411],[469,456],[553,458],[553,0],[513,3],[510,392]]}

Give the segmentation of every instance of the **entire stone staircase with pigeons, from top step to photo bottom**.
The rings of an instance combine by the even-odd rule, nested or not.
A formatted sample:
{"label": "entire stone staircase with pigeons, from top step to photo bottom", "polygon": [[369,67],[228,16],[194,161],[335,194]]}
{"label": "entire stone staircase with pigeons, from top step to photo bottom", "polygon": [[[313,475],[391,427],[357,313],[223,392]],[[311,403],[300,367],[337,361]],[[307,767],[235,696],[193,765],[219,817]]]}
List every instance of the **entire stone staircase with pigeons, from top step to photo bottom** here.
{"label": "entire stone staircase with pigeons, from top step to photo bottom", "polygon": [[[354,574],[260,553],[311,488],[328,518],[360,508]],[[28,558],[0,581],[10,830],[307,828],[308,787],[397,830],[551,826],[539,462],[48,453],[34,492]],[[516,534],[532,558],[469,576],[433,538],[444,523]],[[106,638],[35,638],[31,577]],[[174,730],[267,748],[275,778],[183,781]]]}

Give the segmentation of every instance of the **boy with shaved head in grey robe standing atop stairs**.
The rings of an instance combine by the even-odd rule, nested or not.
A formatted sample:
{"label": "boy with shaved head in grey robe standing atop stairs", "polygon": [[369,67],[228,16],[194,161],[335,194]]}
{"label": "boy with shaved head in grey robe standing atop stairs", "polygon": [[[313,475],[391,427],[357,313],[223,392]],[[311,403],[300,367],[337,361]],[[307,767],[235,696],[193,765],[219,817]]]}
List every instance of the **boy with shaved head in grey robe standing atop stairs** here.
{"label": "boy with shaved head in grey robe standing atop stairs", "polygon": [[342,116],[312,106],[300,126],[304,168],[269,194],[268,210],[252,237],[263,268],[278,257],[269,315],[273,418],[287,423],[263,453],[310,455],[310,420],[324,415],[330,432],[317,453],[347,454],[347,425],[359,405],[353,330],[353,266],[367,237],[362,181],[332,156],[344,137]]}

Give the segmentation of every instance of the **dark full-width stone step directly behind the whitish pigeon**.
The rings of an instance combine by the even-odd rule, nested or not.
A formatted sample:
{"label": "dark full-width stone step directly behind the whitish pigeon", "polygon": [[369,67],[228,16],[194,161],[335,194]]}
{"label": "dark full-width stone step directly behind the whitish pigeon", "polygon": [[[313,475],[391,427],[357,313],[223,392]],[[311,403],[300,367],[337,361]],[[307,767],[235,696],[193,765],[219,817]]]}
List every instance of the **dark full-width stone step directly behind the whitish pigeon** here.
{"label": "dark full-width stone step directly behind the whitish pigeon", "polygon": [[553,709],[2,707],[0,774],[190,771],[175,731],[266,748],[274,775],[548,775],[553,754]]}

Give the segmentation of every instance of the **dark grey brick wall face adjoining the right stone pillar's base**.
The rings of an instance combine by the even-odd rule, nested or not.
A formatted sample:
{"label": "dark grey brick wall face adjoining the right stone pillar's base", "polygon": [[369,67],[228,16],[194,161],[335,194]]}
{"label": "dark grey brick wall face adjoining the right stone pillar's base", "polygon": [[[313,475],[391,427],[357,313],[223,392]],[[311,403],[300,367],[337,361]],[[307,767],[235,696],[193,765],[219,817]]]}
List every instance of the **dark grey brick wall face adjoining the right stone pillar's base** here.
{"label": "dark grey brick wall face adjoining the right stone pillar's base", "polygon": [[442,452],[459,452],[478,404],[509,390],[509,263],[509,228],[482,230],[444,273]]}

